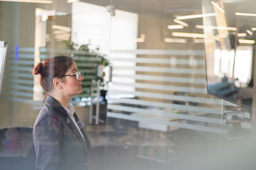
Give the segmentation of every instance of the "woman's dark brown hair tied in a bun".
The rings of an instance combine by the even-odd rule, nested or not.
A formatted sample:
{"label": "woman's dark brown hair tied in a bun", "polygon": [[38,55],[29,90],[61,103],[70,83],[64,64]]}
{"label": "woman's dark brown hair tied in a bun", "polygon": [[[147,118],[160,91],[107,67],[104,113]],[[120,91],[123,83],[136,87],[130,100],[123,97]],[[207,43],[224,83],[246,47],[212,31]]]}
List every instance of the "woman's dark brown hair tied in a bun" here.
{"label": "woman's dark brown hair tied in a bun", "polygon": [[[68,68],[73,64],[73,59],[68,56],[56,56],[48,58],[42,63],[38,63],[33,68],[33,74],[40,74],[40,84],[46,92],[52,89],[52,80],[56,77],[63,77]],[[65,77],[63,77],[65,79]]]}

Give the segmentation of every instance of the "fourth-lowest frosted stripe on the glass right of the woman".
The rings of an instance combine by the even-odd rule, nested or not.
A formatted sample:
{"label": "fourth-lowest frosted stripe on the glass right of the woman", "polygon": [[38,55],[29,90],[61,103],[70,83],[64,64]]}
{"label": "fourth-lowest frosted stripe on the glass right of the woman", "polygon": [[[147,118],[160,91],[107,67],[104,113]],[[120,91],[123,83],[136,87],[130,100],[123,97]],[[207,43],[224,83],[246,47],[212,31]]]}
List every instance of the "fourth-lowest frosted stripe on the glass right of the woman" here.
{"label": "fourth-lowest frosted stripe on the glass right of the woman", "polygon": [[[221,105],[220,99],[188,97],[188,96],[182,96],[182,95],[165,95],[160,93],[149,93],[149,92],[142,92],[142,91],[124,91],[124,90],[109,89],[108,96],[111,97],[112,95],[120,95],[120,94],[129,94],[129,95],[134,95],[136,97],[160,98],[160,99],[166,99],[166,100],[177,100],[177,101],[184,101],[184,102],[198,102],[203,104]],[[227,101],[224,101],[224,105],[236,106]]]}

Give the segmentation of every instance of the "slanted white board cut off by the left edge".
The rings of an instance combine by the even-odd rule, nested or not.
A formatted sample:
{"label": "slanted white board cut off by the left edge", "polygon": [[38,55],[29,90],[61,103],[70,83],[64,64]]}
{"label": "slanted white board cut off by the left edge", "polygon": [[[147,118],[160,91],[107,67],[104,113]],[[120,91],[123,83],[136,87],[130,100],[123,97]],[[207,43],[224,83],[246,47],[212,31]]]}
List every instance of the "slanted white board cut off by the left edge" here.
{"label": "slanted white board cut off by the left edge", "polygon": [[7,52],[7,43],[0,41],[0,94],[3,84],[4,63]]}

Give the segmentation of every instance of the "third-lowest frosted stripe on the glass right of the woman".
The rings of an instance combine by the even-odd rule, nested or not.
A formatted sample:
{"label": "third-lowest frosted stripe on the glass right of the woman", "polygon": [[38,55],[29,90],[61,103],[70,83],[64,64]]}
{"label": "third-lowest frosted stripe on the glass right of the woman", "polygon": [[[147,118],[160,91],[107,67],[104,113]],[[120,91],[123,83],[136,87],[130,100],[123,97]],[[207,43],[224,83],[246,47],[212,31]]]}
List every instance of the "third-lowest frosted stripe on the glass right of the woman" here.
{"label": "third-lowest frosted stripe on the glass right of the woman", "polygon": [[[211,113],[211,114],[221,114],[220,109],[211,109],[209,107],[197,107],[192,105],[182,105],[182,104],[167,104],[163,102],[151,102],[147,100],[136,100],[129,98],[113,98],[108,97],[108,103],[123,103],[123,104],[134,104],[134,105],[145,105],[148,107],[164,107],[167,109],[179,109],[182,111],[191,111],[191,112],[203,112],[203,113]],[[223,111],[227,112],[227,111]]]}

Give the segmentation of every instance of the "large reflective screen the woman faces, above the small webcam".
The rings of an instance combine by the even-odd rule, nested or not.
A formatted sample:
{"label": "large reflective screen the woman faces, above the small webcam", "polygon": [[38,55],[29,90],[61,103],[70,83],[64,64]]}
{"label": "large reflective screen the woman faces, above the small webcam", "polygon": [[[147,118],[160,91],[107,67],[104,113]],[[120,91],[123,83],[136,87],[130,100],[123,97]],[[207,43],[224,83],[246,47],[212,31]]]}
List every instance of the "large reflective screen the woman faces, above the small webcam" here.
{"label": "large reflective screen the woman faces, above the small webcam", "polygon": [[[239,6],[250,5],[243,3],[246,2],[240,2]],[[207,91],[252,112],[255,45],[252,27],[256,27],[256,22],[252,17],[243,16],[243,20],[243,17],[236,15],[238,9],[234,6],[237,2],[213,4],[212,1],[203,1],[204,14],[214,13],[212,17],[204,17],[202,26]]]}

